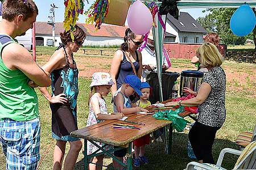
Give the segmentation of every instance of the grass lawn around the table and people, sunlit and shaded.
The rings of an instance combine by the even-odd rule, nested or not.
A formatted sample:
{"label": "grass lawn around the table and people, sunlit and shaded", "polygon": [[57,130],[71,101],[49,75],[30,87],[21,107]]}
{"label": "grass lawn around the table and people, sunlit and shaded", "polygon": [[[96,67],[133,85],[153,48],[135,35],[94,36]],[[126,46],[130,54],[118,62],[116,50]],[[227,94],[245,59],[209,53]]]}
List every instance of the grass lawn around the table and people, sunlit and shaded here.
{"label": "grass lawn around the table and people, sunlit and shaded", "polygon": [[[54,49],[55,48],[38,48],[38,54],[51,55]],[[190,62],[188,60],[172,59],[172,64],[176,68],[183,67],[185,64],[189,63]],[[236,73],[238,71],[241,74],[246,73],[247,78],[244,80],[246,83],[239,82],[239,80],[236,79],[227,82],[226,122],[224,126],[218,130],[216,141],[214,142],[213,146],[213,155],[216,161],[222,148],[231,147],[238,149],[238,146],[236,143],[234,143],[237,135],[242,131],[252,131],[256,122],[256,100],[255,95],[253,95],[256,91],[255,65],[249,63],[234,63],[225,61],[223,66],[227,76],[232,75],[232,71]],[[79,128],[83,128],[86,125],[86,118],[88,117],[89,113],[87,104],[89,84],[90,79],[79,78],[80,92],[77,100]],[[48,102],[43,98],[38,90],[36,90],[36,92],[38,92],[39,96],[40,120],[42,125],[40,141],[41,159],[39,169],[52,169],[53,148],[55,142],[51,138],[51,111],[49,109]],[[110,95],[106,97],[106,102],[109,105],[109,112],[112,112]],[[158,143],[152,143],[151,145],[147,146],[146,150],[146,156],[148,157],[150,164],[143,165],[139,169],[184,169],[187,163],[192,161],[187,156],[187,144],[188,133],[186,131],[183,133],[174,134],[174,145],[172,146],[171,155],[165,155],[163,153],[163,143],[159,143],[159,145]],[[224,162],[222,163],[223,167],[226,169],[232,169],[236,163],[236,159],[237,156],[232,156],[229,154],[226,155]],[[112,163],[112,160],[106,158],[104,159],[104,162],[106,165],[108,165]],[[1,169],[5,169],[3,168],[5,167],[5,156],[3,155],[2,149],[0,151],[0,167],[2,167]],[[80,152],[79,159],[77,160],[76,169],[83,169],[82,152]]]}

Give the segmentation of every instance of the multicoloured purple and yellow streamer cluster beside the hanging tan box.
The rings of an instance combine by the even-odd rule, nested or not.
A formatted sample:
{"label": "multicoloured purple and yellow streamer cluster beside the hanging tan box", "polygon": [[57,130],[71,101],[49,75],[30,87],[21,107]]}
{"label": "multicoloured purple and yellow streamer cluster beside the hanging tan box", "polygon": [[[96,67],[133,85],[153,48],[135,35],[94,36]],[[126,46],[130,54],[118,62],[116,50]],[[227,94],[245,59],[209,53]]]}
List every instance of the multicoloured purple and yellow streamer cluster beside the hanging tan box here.
{"label": "multicoloured purple and yellow streamer cluster beside the hanging tan box", "polygon": [[108,14],[109,2],[110,0],[97,0],[88,11],[85,12],[87,16],[85,24],[93,24],[95,22],[95,31],[100,29],[104,18]]}

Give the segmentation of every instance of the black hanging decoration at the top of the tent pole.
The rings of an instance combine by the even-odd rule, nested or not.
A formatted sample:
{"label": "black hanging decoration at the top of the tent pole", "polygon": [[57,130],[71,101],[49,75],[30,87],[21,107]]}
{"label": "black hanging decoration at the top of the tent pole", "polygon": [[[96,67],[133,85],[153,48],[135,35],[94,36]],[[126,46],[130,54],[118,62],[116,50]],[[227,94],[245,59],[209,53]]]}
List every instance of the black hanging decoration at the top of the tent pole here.
{"label": "black hanging decoration at the top of the tent pole", "polygon": [[160,15],[170,14],[175,19],[179,18],[179,9],[177,8],[177,1],[180,0],[159,0],[162,5],[159,7]]}

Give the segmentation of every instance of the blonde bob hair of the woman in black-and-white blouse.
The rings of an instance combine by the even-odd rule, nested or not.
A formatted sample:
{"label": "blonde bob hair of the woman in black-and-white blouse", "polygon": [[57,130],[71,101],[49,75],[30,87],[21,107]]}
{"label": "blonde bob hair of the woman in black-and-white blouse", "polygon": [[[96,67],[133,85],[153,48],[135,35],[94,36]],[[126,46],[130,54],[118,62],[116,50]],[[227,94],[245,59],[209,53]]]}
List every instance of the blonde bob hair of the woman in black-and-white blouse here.
{"label": "blonde bob hair of the woman in black-and-white blouse", "polygon": [[210,42],[205,42],[199,46],[199,48],[196,50],[196,53],[200,55],[201,65],[203,67],[220,66],[224,60],[217,47]]}

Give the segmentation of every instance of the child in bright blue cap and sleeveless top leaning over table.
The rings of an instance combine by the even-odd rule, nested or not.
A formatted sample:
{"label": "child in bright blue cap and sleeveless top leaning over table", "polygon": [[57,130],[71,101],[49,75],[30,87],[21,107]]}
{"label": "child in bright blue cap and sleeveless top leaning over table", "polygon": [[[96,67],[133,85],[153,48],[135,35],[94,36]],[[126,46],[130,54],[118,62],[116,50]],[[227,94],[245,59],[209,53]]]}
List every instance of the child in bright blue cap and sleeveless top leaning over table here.
{"label": "child in bright blue cap and sleeveless top leaning over table", "polygon": [[[123,114],[130,114],[136,112],[148,112],[146,109],[138,107],[132,104],[129,96],[133,95],[135,92],[142,96],[141,92],[141,80],[136,75],[127,75],[121,89],[116,91],[113,99],[114,112],[119,112]],[[121,162],[123,157],[126,155],[126,149],[114,151],[114,156],[117,157]],[[122,165],[113,160],[113,167],[115,169],[122,169]]]}

